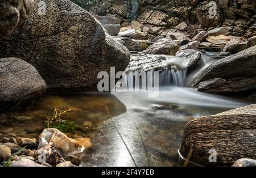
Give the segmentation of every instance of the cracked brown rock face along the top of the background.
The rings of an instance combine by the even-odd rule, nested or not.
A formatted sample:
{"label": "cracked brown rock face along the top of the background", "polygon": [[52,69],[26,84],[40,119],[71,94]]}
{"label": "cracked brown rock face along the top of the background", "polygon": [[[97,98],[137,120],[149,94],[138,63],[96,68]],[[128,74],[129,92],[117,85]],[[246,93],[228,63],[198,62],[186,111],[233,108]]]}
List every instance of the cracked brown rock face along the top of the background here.
{"label": "cracked brown rock face along the top of the background", "polygon": [[89,4],[87,2],[81,0],[78,4],[94,14],[114,16],[122,20],[123,26],[137,20],[146,25],[148,31],[157,35],[166,35],[174,28],[195,36],[200,32],[197,29],[222,26],[232,28],[232,33],[236,36],[256,35],[255,1],[100,0],[98,3]]}

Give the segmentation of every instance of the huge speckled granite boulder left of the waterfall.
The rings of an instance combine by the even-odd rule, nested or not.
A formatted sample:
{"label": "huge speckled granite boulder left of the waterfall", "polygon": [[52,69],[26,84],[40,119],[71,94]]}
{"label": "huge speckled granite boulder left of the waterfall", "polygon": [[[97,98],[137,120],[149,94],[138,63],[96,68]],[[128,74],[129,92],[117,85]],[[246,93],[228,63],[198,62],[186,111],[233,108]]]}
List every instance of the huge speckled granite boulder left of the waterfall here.
{"label": "huge speckled granite boulder left of the waterfall", "polygon": [[92,14],[68,0],[46,0],[46,14],[31,12],[9,37],[0,41],[0,56],[31,63],[49,91],[97,90],[97,74],[123,71],[129,50],[114,40]]}

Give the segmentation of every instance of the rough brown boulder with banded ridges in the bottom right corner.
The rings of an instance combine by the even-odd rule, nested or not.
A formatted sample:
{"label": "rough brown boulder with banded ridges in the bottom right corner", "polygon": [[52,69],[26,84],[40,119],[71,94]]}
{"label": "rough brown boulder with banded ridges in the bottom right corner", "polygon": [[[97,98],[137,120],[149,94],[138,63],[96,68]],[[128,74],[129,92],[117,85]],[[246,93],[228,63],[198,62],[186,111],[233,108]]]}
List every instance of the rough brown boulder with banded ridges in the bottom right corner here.
{"label": "rough brown boulder with banded ridges in the bottom right corner", "polygon": [[180,154],[204,166],[232,166],[241,158],[256,159],[255,139],[256,104],[253,104],[189,122]]}

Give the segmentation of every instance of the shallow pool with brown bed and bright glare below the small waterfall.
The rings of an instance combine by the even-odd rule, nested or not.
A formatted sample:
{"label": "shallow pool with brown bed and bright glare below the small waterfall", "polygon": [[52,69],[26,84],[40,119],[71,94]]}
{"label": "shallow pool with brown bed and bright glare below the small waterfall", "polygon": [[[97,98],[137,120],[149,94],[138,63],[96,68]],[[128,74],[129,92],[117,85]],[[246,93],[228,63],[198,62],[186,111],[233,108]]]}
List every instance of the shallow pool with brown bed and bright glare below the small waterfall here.
{"label": "shallow pool with brown bed and bright glare below the small waterfall", "polygon": [[157,98],[147,92],[45,95],[26,112],[2,115],[0,137],[38,137],[54,108],[65,107],[74,109],[69,120],[79,125],[66,134],[92,139],[93,147],[81,154],[82,166],[179,166],[187,122],[249,104],[191,88],[160,89]]}

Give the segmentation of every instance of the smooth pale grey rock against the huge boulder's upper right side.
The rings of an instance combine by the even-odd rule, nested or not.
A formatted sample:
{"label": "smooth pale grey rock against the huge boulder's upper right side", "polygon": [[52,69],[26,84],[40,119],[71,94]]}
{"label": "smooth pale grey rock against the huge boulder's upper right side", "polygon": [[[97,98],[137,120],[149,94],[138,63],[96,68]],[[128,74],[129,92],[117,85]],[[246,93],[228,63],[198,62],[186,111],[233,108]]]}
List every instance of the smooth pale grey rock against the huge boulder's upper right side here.
{"label": "smooth pale grey rock against the huge boulder's upper right side", "polygon": [[119,24],[118,19],[113,18],[112,16],[94,16],[100,23],[102,24],[102,27],[108,31],[109,35],[116,36],[121,26]]}

